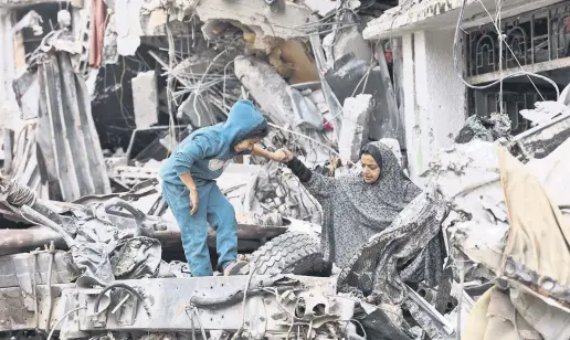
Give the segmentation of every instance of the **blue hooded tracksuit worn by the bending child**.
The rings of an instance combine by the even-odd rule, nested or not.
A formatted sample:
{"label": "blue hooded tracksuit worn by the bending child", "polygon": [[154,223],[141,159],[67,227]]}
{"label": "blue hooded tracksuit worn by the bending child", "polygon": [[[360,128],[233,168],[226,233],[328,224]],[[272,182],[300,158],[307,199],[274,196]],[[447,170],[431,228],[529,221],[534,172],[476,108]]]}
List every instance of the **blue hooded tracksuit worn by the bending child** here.
{"label": "blue hooded tracksuit worn by the bending child", "polygon": [[[266,129],[267,121],[255,106],[249,100],[240,100],[225,123],[193,131],[160,169],[162,196],[180,226],[182,246],[193,276],[213,274],[207,245],[207,222],[217,231],[218,264],[225,268],[238,257],[235,212],[215,179],[236,155],[234,145]],[[179,178],[187,172],[198,188],[199,203],[194,215],[190,214],[190,191]]]}

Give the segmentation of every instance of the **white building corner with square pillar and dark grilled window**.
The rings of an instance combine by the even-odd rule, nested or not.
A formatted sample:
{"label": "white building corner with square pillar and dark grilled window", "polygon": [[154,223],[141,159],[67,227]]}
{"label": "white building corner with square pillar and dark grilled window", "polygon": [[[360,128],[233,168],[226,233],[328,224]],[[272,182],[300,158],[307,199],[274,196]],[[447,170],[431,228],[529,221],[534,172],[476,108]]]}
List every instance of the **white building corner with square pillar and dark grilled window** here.
{"label": "white building corner with square pillar and dark grilled window", "polygon": [[[503,107],[515,135],[530,128],[519,111],[556,100],[558,89],[525,73],[547,76],[560,88],[568,85],[567,13],[568,2],[557,0],[411,0],[367,24],[365,39],[393,41],[394,84],[403,102],[412,177],[428,169],[439,148],[451,145],[468,116]],[[504,34],[503,45],[495,25]],[[498,84],[488,86],[499,79],[502,98]]]}

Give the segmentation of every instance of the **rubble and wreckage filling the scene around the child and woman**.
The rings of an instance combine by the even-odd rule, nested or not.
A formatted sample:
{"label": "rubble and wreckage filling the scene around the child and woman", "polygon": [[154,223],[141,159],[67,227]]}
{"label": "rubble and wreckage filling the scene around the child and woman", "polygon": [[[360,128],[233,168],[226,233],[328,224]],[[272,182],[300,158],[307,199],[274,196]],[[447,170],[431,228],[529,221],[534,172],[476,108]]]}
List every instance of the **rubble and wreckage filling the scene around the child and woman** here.
{"label": "rubble and wreckage filling the scene around the child and woman", "polygon": [[252,270],[192,277],[158,172],[239,99],[265,149],[323,176],[359,173],[378,140],[407,168],[392,46],[362,38],[398,1],[63,3],[12,29],[35,39],[1,108],[1,339],[570,339],[570,87],[516,136],[504,113],[467,118],[341,268],[299,179],[235,159],[217,182]]}

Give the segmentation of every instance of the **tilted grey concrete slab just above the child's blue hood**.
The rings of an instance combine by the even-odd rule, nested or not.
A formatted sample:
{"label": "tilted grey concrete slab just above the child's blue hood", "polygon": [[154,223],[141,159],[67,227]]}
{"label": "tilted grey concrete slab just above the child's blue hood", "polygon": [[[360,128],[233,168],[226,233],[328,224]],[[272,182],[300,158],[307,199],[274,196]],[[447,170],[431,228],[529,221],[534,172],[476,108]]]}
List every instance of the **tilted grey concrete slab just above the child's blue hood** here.
{"label": "tilted grey concrete slab just above the child's blue hood", "polygon": [[238,55],[234,70],[238,79],[260,104],[264,114],[279,125],[295,124],[288,84],[275,68],[254,57]]}

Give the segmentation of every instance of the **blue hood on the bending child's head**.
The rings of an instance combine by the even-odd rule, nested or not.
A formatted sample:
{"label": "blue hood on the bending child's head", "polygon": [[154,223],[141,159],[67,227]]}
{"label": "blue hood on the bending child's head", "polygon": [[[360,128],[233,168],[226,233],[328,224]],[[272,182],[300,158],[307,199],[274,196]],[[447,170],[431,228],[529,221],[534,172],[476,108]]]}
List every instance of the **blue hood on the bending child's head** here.
{"label": "blue hood on the bending child's head", "polygon": [[225,141],[232,147],[240,141],[267,135],[267,120],[255,108],[250,100],[239,100],[232,106],[228,120],[222,124],[220,129]]}

